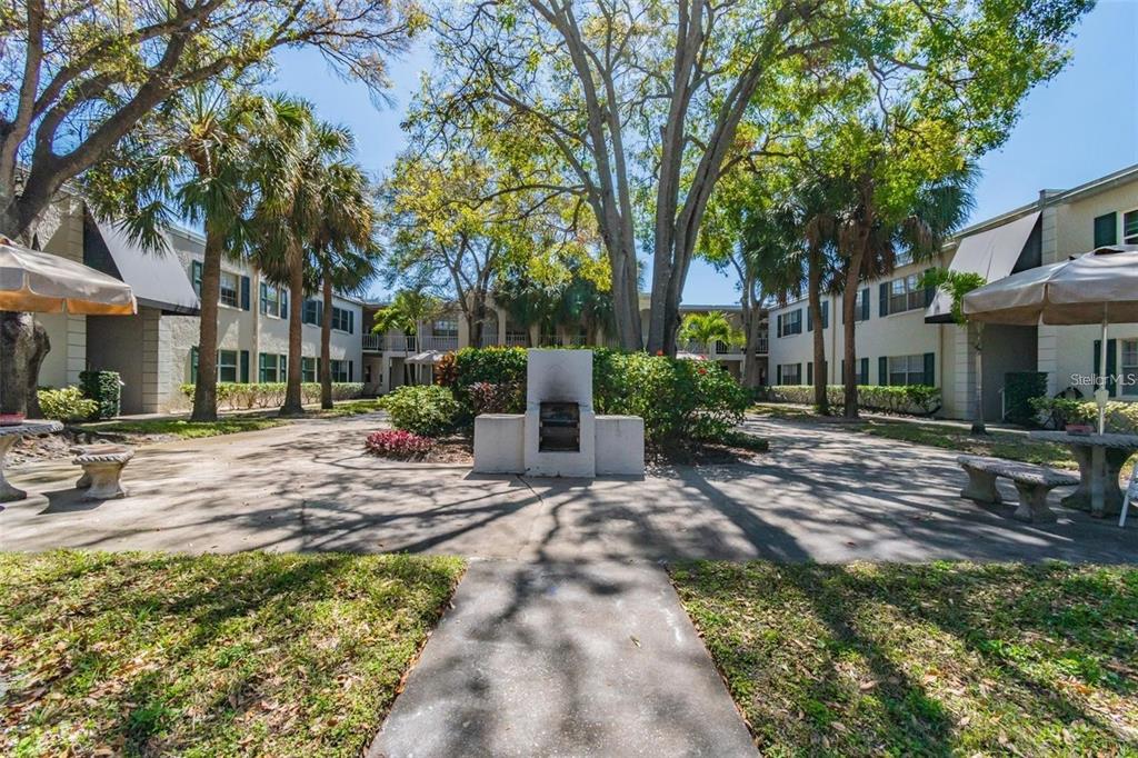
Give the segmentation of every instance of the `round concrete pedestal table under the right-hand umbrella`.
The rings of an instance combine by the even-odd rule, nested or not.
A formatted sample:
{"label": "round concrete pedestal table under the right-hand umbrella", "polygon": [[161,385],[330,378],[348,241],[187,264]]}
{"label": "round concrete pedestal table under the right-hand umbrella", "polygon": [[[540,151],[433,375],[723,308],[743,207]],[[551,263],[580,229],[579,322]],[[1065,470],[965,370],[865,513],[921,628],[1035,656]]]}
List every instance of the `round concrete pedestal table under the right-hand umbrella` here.
{"label": "round concrete pedestal table under the right-hand umbrella", "polygon": [[1071,435],[1065,431],[1032,431],[1031,439],[1066,445],[1079,462],[1079,488],[1063,499],[1066,508],[1090,511],[1096,518],[1122,511],[1119,475],[1138,452],[1138,435]]}

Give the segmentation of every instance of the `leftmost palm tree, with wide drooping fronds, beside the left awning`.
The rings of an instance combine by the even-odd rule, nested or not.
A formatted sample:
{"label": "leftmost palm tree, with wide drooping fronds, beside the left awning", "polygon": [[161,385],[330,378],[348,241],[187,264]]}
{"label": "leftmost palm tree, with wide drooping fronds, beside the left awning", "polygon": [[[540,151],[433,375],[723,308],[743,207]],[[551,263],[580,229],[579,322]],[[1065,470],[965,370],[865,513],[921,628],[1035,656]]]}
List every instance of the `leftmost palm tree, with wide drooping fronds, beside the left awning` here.
{"label": "leftmost palm tree, with wide drooping fronds, beside the left awning", "polygon": [[[124,142],[84,180],[97,213],[123,220],[127,236],[146,249],[165,252],[162,232],[175,219],[204,228],[193,421],[217,418],[221,265],[247,250],[250,146],[277,123],[279,104],[217,85],[190,88],[155,114],[160,127],[149,130],[150,138],[140,133]],[[143,139],[149,141],[141,145]]]}

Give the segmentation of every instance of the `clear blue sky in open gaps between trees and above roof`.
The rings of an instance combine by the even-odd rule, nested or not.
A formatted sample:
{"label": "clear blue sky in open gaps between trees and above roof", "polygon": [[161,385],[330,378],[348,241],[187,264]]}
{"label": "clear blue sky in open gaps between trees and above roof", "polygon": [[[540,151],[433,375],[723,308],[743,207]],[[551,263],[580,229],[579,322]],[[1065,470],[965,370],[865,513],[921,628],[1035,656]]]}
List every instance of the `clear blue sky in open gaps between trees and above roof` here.
{"label": "clear blue sky in open gaps between trees and above roof", "polygon": [[[1077,30],[1072,52],[1071,64],[1024,100],[1011,139],[980,160],[973,221],[1029,203],[1040,189],[1073,187],[1138,163],[1138,0],[1100,0]],[[399,122],[429,66],[424,48],[394,61],[394,105],[376,107],[362,85],[338,77],[319,53],[289,50],[278,56],[277,88],[314,102],[325,121],[349,126],[360,162],[378,175],[405,146]],[[684,302],[735,299],[733,279],[692,265]]]}

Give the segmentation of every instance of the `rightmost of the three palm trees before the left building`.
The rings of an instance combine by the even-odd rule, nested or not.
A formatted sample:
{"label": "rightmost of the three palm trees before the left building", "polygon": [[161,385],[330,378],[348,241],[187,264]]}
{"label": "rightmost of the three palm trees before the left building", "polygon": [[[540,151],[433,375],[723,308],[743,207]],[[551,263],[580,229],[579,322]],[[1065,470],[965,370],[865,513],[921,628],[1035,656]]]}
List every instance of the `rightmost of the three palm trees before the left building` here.
{"label": "rightmost of the three palm trees before the left building", "polygon": [[320,322],[320,405],[332,407],[330,361],[332,293],[360,294],[377,272],[374,206],[363,171],[348,163],[328,166],[320,186],[321,216],[312,240],[324,318]]}

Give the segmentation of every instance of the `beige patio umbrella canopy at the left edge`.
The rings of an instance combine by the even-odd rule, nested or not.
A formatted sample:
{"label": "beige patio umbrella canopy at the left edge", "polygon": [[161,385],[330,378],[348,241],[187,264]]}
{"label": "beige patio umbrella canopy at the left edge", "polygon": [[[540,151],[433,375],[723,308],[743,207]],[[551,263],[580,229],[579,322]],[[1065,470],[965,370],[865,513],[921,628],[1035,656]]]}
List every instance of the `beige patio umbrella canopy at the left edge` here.
{"label": "beige patio umbrella canopy at the left edge", "polygon": [[130,285],[0,236],[0,311],[131,315],[138,306]]}

